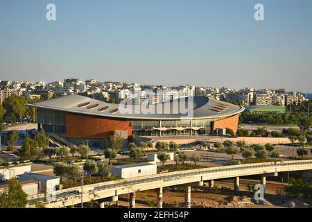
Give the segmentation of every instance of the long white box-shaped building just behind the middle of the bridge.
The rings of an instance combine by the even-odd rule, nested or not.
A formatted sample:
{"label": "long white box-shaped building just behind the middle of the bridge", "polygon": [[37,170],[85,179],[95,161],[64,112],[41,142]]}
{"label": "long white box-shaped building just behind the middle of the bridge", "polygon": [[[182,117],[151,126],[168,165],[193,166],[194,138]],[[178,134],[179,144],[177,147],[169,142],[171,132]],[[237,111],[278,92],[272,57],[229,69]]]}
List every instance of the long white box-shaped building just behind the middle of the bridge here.
{"label": "long white box-shaped building just behind the middle of the bridge", "polygon": [[157,164],[140,162],[137,164],[125,164],[112,166],[112,175],[117,178],[135,178],[139,176],[150,176],[157,173]]}

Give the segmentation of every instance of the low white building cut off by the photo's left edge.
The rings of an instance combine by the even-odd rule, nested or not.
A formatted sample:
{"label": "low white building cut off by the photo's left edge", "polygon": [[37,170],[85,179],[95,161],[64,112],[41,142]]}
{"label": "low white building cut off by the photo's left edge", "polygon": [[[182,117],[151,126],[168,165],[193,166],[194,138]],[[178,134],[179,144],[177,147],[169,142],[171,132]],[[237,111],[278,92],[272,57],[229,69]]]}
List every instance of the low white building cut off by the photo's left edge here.
{"label": "low white building cut off by the photo's left edge", "polygon": [[0,167],[0,181],[10,180],[24,173],[31,172],[31,164],[10,165],[8,167]]}

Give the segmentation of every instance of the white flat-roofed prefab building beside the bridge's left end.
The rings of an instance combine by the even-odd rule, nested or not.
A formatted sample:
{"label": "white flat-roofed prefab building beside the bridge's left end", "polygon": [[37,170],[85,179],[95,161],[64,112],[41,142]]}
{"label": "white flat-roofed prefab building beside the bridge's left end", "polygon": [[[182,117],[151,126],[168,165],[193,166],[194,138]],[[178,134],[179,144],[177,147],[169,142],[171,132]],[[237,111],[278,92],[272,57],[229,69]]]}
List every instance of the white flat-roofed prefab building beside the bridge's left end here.
{"label": "white flat-roofed prefab building beside the bridge's left end", "polygon": [[38,191],[40,193],[51,193],[60,187],[60,178],[56,176],[47,176],[39,173],[26,173],[19,176],[19,181],[35,180],[39,182]]}

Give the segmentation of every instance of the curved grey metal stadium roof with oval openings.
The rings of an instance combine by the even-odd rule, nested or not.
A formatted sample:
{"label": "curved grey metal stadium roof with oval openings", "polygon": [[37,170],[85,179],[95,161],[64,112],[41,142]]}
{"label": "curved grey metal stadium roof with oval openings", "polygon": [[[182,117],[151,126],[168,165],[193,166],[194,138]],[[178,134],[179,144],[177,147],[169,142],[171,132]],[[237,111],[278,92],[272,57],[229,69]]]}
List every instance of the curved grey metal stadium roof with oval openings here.
{"label": "curved grey metal stadium roof with oval openings", "polygon": [[[121,119],[209,119],[229,117],[243,112],[245,108],[231,103],[225,103],[205,96],[188,97],[155,105],[145,105],[141,110],[139,105],[119,105],[98,101],[85,96],[70,95],[57,99],[27,104],[30,107],[46,110],[58,110],[76,114],[87,114],[99,117]],[[165,110],[165,108],[167,108]],[[137,112],[139,111],[139,112]],[[186,114],[187,112],[187,114]]]}

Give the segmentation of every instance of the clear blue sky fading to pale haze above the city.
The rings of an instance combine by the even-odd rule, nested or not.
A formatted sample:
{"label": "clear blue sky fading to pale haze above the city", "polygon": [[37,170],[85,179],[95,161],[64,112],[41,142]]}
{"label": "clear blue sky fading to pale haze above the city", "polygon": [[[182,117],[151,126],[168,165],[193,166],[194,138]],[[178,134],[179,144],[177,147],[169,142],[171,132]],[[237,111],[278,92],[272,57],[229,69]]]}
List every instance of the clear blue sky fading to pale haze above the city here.
{"label": "clear blue sky fading to pale haze above the city", "polygon": [[312,92],[311,70],[311,0],[0,1],[0,79]]}

